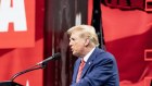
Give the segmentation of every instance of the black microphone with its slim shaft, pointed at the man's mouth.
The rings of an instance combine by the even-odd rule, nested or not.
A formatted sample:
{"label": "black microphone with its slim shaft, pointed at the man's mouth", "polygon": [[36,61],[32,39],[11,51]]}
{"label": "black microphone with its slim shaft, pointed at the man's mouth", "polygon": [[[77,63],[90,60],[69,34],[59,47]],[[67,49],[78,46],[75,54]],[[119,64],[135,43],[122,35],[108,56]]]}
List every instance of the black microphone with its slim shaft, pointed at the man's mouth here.
{"label": "black microphone with its slim shaft, pointed at the man's mouth", "polygon": [[49,57],[49,58],[45,59],[43,61],[41,61],[41,62],[39,62],[39,63],[37,63],[37,64],[38,64],[38,65],[46,64],[46,63],[48,63],[48,62],[51,61],[51,60],[58,60],[58,59],[60,59],[60,58],[61,58],[61,53],[60,53],[60,52],[56,52],[56,53],[54,53],[52,57]]}

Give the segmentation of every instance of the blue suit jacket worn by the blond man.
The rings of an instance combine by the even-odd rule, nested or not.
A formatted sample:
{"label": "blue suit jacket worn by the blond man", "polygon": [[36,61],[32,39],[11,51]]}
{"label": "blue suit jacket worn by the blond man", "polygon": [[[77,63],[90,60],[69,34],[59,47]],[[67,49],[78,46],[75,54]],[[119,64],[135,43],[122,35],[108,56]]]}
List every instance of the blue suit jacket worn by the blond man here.
{"label": "blue suit jacket worn by the blond man", "polygon": [[96,48],[76,83],[79,64],[80,58],[75,63],[71,86],[119,86],[117,64],[110,52]]}

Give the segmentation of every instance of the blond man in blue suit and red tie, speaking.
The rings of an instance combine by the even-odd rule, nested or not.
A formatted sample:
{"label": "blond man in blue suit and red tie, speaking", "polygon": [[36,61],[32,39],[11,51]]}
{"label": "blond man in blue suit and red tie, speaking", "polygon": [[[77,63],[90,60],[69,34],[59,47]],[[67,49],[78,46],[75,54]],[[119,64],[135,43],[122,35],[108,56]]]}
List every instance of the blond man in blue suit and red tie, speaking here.
{"label": "blond man in blue suit and red tie, speaking", "polygon": [[119,86],[114,57],[98,48],[96,30],[89,25],[77,25],[67,30],[69,46],[78,57],[71,86]]}

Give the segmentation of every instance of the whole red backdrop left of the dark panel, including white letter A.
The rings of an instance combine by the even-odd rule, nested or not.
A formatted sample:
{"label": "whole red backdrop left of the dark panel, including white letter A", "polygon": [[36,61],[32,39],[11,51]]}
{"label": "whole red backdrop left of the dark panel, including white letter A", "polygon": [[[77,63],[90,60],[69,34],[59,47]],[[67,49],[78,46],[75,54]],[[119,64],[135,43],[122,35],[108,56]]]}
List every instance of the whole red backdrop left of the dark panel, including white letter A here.
{"label": "whole red backdrop left of the dark panel, including white letter A", "polygon": [[[42,61],[43,11],[39,9],[43,9],[43,1],[35,4],[36,0],[0,0],[0,82]],[[42,70],[25,73],[14,82],[42,86]]]}

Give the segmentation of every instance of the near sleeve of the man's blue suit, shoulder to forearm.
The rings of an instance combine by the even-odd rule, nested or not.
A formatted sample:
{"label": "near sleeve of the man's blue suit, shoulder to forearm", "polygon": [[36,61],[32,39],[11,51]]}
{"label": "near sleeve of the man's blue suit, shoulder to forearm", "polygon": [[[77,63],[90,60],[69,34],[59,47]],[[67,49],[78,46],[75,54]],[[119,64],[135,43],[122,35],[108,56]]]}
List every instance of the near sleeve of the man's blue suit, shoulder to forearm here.
{"label": "near sleeve of the man's blue suit, shoulder to forearm", "polygon": [[[93,60],[86,76],[78,83],[73,83],[71,86],[102,86],[105,83],[107,86],[117,86],[113,83],[116,82],[115,76],[117,73],[115,69],[116,64],[111,54],[99,54],[96,60]],[[110,82],[107,83],[107,81]]]}

